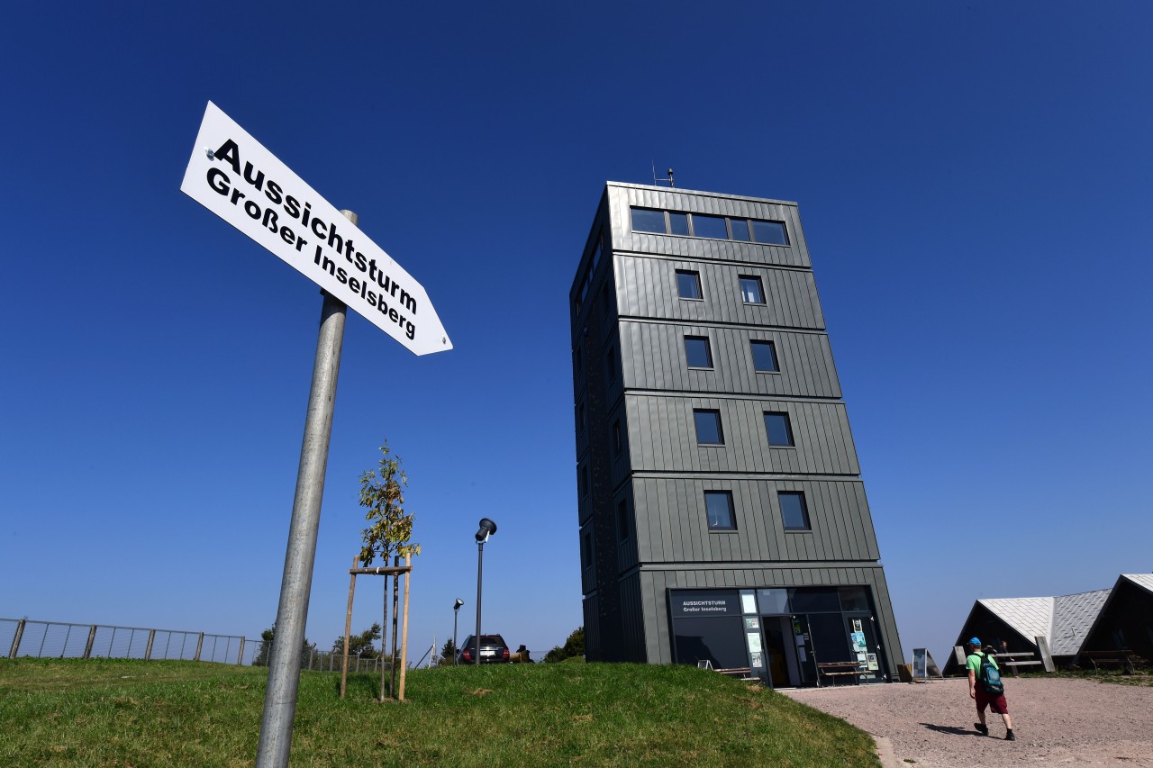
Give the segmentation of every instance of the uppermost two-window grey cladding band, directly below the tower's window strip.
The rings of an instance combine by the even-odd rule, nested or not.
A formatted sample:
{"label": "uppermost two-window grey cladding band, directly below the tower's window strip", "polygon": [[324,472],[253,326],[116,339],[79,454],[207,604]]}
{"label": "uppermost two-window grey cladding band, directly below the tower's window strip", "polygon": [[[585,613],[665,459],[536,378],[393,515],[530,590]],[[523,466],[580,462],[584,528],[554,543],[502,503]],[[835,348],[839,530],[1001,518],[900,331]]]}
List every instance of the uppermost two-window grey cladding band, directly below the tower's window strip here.
{"label": "uppermost two-window grey cladding band, directly below the tower's window strip", "polygon": [[[737,323],[824,330],[813,273],[616,254],[617,306],[621,317],[687,323]],[[677,271],[700,274],[701,300],[681,299]],[[740,278],[758,277],[763,304],[745,303]]]}

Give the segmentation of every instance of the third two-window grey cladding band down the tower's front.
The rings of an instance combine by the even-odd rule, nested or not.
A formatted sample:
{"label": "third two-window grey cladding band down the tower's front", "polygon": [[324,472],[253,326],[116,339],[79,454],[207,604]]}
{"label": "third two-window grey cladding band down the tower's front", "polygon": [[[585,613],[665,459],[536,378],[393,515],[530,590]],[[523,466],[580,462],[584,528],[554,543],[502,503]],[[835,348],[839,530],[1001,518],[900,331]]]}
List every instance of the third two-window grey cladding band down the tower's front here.
{"label": "third two-window grey cladding band down the tower's front", "polygon": [[[627,394],[633,472],[859,475],[843,402]],[[693,412],[721,413],[724,445],[699,445]],[[794,447],[769,445],[764,414],[786,413]]]}

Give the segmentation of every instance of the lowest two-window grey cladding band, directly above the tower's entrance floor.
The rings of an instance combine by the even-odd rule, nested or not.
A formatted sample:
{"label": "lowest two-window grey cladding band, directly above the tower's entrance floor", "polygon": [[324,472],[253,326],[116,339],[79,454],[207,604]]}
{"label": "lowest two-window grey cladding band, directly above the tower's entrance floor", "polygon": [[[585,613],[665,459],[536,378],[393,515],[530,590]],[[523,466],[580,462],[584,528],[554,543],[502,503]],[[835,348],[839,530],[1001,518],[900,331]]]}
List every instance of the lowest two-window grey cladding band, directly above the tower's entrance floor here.
{"label": "lowest two-window grey cladding band, directly above the tower's entrance floor", "polygon": [[[633,480],[641,563],[876,560],[876,534],[859,481]],[[737,526],[710,532],[704,491],[730,491]],[[785,530],[777,494],[801,492],[811,529]]]}

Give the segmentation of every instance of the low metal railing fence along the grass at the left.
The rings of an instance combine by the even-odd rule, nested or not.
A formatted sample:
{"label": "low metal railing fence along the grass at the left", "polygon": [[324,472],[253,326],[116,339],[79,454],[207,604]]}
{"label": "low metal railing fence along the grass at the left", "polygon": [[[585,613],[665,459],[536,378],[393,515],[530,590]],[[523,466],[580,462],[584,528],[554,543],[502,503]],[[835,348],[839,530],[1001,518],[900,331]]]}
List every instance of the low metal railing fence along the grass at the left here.
{"label": "low metal railing fence along the grass at the left", "polygon": [[[6,648],[8,658],[167,658],[255,667],[267,665],[271,652],[263,640],[234,634],[0,618],[0,653]],[[349,656],[348,670],[389,668],[387,655],[375,656],[375,652]],[[301,669],[338,672],[342,658],[309,647],[301,655]]]}

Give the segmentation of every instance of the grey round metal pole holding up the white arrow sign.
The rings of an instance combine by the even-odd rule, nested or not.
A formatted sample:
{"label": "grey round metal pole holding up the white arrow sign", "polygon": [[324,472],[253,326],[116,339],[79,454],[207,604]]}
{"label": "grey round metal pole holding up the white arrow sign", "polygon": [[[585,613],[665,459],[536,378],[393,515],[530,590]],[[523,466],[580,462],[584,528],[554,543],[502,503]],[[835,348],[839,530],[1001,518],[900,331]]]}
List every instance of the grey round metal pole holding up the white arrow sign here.
{"label": "grey round metal pole holding up the white arrow sign", "polygon": [[[341,213],[353,225],[356,224],[355,213]],[[324,473],[329,464],[329,439],[332,436],[332,409],[337,398],[346,310],[342,301],[324,292],[316,361],[312,364],[312,387],[308,396],[304,439],[296,472],[296,496],[288,528],[285,572],[280,581],[276,638],[269,660],[269,684],[264,694],[261,740],[256,751],[257,768],[285,768],[292,747],[301,647],[304,643],[304,622],[308,619],[308,597],[312,587],[316,532],[321,525],[321,499],[324,496]]]}

